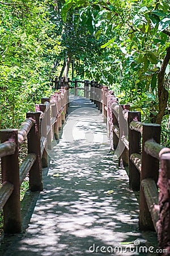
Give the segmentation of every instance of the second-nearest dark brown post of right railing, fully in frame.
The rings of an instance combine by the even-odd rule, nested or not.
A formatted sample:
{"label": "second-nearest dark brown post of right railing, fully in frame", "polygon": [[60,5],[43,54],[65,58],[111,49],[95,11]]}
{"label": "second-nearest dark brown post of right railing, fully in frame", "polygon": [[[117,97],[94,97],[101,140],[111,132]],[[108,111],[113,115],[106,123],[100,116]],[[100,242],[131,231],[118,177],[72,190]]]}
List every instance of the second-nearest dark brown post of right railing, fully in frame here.
{"label": "second-nearest dark brown post of right railing, fully in frame", "polygon": [[[153,158],[151,155],[145,152],[144,145],[148,139],[154,139],[155,142],[160,143],[160,125],[143,123],[142,132],[141,181],[150,177],[151,179],[155,180],[155,183],[157,183],[159,174],[159,160]],[[155,230],[142,187],[140,189],[139,228],[141,230]]]}

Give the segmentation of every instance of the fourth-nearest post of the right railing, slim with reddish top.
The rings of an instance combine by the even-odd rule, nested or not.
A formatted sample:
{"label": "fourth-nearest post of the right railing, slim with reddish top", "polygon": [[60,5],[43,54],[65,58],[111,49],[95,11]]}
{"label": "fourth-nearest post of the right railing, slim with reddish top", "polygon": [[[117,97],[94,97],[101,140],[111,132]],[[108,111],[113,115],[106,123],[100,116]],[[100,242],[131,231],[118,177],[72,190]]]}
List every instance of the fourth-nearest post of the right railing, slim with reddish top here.
{"label": "fourth-nearest post of the right railing, slim with reddish top", "polygon": [[[123,111],[124,110],[130,110],[130,105],[119,105],[119,137],[120,137],[120,143],[119,143],[119,166],[121,163],[121,160],[123,162],[124,166],[129,165],[129,154],[128,149],[126,148],[124,141],[128,141],[128,120],[124,118]],[[127,144],[127,143],[126,143]],[[128,146],[128,145],[127,145]]]}

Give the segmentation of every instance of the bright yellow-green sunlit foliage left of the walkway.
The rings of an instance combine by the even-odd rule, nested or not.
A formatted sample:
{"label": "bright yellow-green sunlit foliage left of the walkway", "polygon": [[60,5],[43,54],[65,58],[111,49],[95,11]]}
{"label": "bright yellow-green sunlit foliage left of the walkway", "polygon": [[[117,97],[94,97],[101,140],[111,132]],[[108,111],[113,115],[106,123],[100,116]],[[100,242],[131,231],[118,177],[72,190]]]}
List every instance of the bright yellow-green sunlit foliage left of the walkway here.
{"label": "bright yellow-green sunlit foliage left of the walkway", "polygon": [[18,127],[51,91],[49,75],[61,46],[53,6],[45,0],[0,2],[0,17],[0,126]]}

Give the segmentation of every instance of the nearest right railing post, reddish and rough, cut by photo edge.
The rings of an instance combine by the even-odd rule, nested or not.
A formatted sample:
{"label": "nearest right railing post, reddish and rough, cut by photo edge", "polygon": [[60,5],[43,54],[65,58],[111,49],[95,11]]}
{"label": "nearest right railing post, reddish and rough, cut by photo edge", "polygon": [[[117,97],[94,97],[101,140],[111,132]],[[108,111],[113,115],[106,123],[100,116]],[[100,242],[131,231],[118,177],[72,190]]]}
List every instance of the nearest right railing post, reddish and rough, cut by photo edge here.
{"label": "nearest right railing post, reddish and rough, cut by photo edge", "polygon": [[159,255],[170,255],[170,153],[162,154],[160,158],[160,172],[158,187],[159,192],[159,225],[158,246],[159,249],[167,250],[167,253]]}

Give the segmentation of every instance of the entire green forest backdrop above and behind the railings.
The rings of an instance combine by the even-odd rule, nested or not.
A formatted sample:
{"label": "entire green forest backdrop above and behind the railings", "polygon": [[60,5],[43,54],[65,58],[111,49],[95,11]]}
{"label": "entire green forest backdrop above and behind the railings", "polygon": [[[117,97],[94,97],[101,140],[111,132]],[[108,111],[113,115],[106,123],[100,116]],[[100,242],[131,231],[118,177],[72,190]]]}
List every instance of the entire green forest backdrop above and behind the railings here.
{"label": "entire green forest backdrop above and behind the railings", "polygon": [[0,128],[17,128],[55,76],[96,80],[162,123],[170,144],[168,0],[0,1]]}

